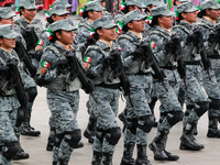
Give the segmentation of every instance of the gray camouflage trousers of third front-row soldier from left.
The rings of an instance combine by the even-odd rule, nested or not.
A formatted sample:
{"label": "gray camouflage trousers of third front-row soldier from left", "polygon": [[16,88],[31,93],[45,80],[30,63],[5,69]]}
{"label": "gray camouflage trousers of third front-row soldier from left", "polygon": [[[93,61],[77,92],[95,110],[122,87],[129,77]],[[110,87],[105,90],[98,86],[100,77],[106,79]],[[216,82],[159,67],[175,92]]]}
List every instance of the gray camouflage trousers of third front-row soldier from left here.
{"label": "gray camouflage trousers of third front-row soldier from left", "polygon": [[[119,128],[119,123],[117,121],[120,97],[119,89],[96,86],[94,97],[89,96],[92,113],[97,118],[97,131],[92,146],[94,152],[103,154],[113,153],[116,145],[110,144],[108,138],[111,136],[109,130]],[[94,155],[92,161],[95,160],[96,157]],[[103,157],[103,161],[107,160]]]}

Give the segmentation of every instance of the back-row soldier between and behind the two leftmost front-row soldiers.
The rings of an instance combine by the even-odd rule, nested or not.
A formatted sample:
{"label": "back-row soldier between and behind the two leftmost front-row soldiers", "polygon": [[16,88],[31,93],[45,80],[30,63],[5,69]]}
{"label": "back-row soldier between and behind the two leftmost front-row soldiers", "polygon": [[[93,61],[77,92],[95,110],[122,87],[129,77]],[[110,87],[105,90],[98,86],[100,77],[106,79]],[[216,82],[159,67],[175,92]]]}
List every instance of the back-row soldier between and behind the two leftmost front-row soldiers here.
{"label": "back-row soldier between and behind the two leftmost front-row soldiers", "polygon": [[[40,37],[40,34],[43,31],[43,24],[42,24],[41,20],[34,19],[34,16],[36,15],[35,0],[20,0],[20,14],[21,14],[20,19],[14,22],[15,29],[18,29],[18,31],[22,34],[22,32],[24,32],[26,28],[34,26],[35,34],[37,35],[37,37]],[[36,40],[38,40],[38,38],[36,38]],[[35,48],[29,50],[28,54],[31,57],[32,64],[35,67],[37,67],[41,54],[37,54]],[[31,86],[30,87],[31,91],[29,91],[29,92],[31,92],[31,96],[32,96],[32,98],[30,99],[31,102],[28,106],[30,118],[25,119],[25,122],[23,123],[23,127],[22,127],[21,134],[38,136],[41,134],[41,132],[35,131],[34,128],[32,128],[30,124],[32,107],[33,107],[35,97],[37,95],[37,89],[36,89],[36,84],[30,85],[30,86]]]}

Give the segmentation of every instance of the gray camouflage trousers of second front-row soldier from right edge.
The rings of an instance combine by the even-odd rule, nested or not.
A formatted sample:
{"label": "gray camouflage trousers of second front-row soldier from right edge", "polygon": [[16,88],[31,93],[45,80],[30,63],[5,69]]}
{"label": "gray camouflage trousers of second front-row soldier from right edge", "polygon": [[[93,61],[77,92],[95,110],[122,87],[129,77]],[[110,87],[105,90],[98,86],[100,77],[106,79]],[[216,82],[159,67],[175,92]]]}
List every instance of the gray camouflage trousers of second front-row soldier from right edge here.
{"label": "gray camouflage trousers of second front-row soldier from right edge", "polygon": [[[186,128],[188,121],[197,122],[199,118],[189,119],[188,117],[196,116],[195,111],[191,109],[195,108],[195,105],[198,102],[209,101],[206,92],[202,89],[202,68],[200,65],[186,65],[186,78],[182,80],[180,85],[185,94],[185,101],[187,109],[183,118],[184,129]],[[194,114],[190,114],[194,113]]]}

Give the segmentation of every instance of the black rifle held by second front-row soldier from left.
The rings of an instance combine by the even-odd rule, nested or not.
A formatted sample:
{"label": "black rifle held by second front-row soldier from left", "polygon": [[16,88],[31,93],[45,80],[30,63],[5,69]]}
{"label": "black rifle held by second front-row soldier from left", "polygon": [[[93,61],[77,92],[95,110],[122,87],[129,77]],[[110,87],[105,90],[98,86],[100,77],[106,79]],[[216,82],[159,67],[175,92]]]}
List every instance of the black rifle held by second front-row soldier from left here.
{"label": "black rifle held by second front-row soldier from left", "polygon": [[65,56],[66,59],[68,61],[68,70],[69,70],[69,74],[67,75],[66,78],[66,82],[69,84],[70,81],[74,81],[76,77],[78,77],[81,82],[84,91],[86,94],[91,94],[91,96],[94,97],[92,91],[95,88],[95,84],[91,79],[85,76],[86,73],[81,67],[79,61],[77,59],[75,51],[74,50],[69,51]]}

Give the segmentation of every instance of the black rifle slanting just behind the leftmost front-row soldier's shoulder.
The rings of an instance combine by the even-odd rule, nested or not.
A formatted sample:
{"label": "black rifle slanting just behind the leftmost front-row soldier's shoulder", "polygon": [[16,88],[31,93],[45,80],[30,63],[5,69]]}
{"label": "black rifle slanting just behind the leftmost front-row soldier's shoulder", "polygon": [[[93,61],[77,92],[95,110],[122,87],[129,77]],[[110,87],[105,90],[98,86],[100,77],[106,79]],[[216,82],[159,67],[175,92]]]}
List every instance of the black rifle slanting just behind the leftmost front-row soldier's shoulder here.
{"label": "black rifle slanting just behind the leftmost front-row soldier's shoulder", "polygon": [[21,42],[21,37],[18,37],[15,43],[16,43],[16,46],[14,51],[19,55],[20,61],[24,62],[29,73],[31,74],[31,77],[34,78],[36,75],[36,68],[32,64],[31,58],[29,57],[26,50]]}

